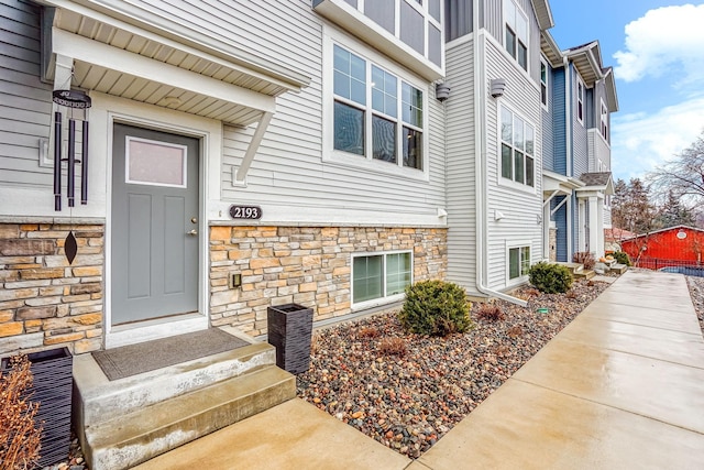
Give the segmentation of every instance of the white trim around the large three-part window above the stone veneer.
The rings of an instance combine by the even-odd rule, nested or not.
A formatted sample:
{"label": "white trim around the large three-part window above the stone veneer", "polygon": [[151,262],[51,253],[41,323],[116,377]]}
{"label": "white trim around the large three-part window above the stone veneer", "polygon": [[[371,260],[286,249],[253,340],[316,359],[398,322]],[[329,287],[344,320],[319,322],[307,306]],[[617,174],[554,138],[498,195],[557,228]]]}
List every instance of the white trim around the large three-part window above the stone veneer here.
{"label": "white trim around the large three-part window above the stone veneer", "polygon": [[[348,50],[349,52],[362,57],[367,62],[367,83],[371,83],[369,70],[371,70],[370,64],[376,65],[384,70],[395,75],[399,78],[399,85],[406,81],[422,91],[422,170],[410,168],[404,166],[403,153],[397,155],[396,164],[389,164],[388,162],[374,160],[367,155],[353,155],[346,152],[334,150],[334,76],[333,76],[333,48],[334,45],[339,45]],[[356,41],[353,37],[340,32],[333,26],[323,26],[323,45],[322,45],[323,58],[322,58],[322,156],[321,160],[327,164],[334,164],[344,167],[354,167],[371,172],[374,174],[385,174],[393,177],[404,179],[416,181],[430,181],[430,121],[429,121],[429,85],[422,78],[410,75],[408,72],[398,67],[394,62],[384,55],[373,51],[365,44]],[[400,101],[400,86],[398,88],[398,100]],[[365,112],[372,112],[371,94],[367,90],[367,103],[365,105]],[[371,116],[371,114],[370,114]],[[365,117],[366,119],[366,117]],[[398,122],[403,124],[402,117],[398,117]],[[414,128],[414,125],[409,125]],[[371,133],[371,129],[364,125],[365,143],[371,142],[371,136],[366,135]],[[371,152],[371,149],[370,149]]]}

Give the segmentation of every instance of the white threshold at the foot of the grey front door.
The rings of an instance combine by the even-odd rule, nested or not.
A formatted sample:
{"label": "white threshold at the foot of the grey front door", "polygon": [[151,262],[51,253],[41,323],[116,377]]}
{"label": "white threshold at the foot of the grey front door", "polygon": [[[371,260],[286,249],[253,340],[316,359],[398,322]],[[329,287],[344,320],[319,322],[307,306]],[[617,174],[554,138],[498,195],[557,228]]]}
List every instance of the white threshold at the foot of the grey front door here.
{"label": "white threshold at the foot of the grey front door", "polygon": [[113,326],[106,335],[106,349],[152,341],[206,328],[208,328],[208,317],[197,313]]}

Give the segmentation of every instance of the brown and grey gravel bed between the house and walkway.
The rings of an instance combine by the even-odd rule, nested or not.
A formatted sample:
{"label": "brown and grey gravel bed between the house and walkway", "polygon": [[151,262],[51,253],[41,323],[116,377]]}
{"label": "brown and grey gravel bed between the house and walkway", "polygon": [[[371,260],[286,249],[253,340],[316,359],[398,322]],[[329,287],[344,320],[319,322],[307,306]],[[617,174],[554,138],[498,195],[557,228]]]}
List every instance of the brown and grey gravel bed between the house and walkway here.
{"label": "brown and grey gravel bed between the house and walkway", "polygon": [[552,295],[521,287],[514,294],[528,307],[496,302],[504,317],[492,320],[475,303],[475,328],[446,338],[406,334],[393,313],[318,330],[298,396],[417,458],[607,286],[578,281],[568,294]]}

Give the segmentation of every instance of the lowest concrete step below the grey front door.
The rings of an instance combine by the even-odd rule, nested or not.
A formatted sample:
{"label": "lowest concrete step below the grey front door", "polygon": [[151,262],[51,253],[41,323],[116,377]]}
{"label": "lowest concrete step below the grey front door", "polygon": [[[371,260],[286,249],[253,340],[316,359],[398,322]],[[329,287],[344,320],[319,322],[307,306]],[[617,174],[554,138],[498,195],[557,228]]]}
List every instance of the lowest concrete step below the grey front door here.
{"label": "lowest concrete step below the grey front door", "polygon": [[275,365],[220,381],[85,428],[91,470],[122,470],[296,396]]}

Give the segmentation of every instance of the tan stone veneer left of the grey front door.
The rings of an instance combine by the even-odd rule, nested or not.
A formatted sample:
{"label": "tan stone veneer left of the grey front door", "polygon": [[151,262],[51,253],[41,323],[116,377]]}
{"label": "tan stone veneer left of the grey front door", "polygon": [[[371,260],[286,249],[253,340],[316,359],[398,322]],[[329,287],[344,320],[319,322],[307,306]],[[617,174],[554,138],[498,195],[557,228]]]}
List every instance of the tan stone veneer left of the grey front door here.
{"label": "tan stone veneer left of the grey front door", "polygon": [[[69,229],[78,254],[69,265]],[[105,227],[86,223],[0,223],[0,356],[102,345]]]}

